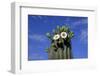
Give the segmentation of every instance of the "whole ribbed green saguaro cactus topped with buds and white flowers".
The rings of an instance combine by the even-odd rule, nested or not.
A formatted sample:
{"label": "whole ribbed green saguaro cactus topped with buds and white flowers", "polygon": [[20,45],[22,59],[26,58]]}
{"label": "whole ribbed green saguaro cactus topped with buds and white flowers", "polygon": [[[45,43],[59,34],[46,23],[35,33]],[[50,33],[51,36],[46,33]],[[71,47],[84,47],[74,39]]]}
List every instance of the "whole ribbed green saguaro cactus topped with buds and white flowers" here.
{"label": "whole ribbed green saguaro cactus topped with buds and white flowers", "polygon": [[47,49],[49,59],[72,58],[71,39],[74,34],[67,26],[57,26],[53,33],[46,35],[51,41],[51,45]]}

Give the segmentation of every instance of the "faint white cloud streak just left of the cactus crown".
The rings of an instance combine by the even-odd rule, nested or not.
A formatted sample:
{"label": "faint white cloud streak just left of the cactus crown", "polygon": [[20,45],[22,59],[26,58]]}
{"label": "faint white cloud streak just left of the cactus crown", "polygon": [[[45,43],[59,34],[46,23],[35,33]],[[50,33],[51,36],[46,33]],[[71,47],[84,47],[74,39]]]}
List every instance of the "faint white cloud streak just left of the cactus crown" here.
{"label": "faint white cloud streak just left of the cactus crown", "polygon": [[29,35],[29,38],[36,40],[36,41],[39,41],[39,42],[46,42],[47,41],[46,36],[40,35],[40,34]]}

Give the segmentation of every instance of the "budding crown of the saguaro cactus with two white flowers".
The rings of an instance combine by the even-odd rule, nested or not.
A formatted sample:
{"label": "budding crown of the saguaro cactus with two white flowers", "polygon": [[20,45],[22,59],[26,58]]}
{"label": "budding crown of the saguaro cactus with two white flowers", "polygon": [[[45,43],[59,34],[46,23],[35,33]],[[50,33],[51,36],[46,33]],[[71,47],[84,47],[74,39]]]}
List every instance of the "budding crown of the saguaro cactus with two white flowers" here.
{"label": "budding crown of the saguaro cactus with two white flowers", "polygon": [[71,40],[74,33],[67,26],[57,26],[56,29],[52,30],[52,33],[47,33],[46,35],[51,41],[61,38]]}

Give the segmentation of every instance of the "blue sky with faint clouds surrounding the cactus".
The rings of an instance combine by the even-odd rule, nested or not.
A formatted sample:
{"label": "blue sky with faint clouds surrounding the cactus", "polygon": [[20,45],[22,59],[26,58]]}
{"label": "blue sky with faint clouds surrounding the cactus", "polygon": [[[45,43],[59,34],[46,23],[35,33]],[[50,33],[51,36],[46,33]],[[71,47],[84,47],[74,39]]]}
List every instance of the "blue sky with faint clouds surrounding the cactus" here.
{"label": "blue sky with faint clouds surrounding the cactus", "polygon": [[67,25],[74,32],[71,40],[73,57],[88,57],[87,17],[28,15],[28,60],[48,59],[45,50],[50,46],[50,41],[46,33],[52,33],[57,25]]}

